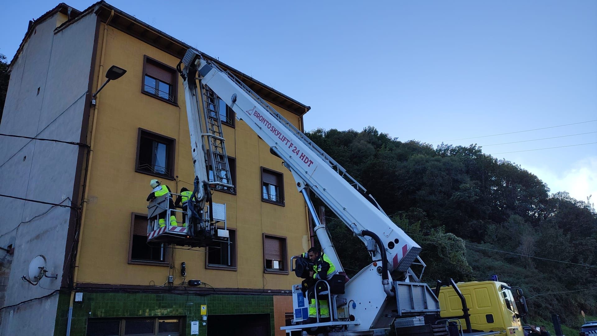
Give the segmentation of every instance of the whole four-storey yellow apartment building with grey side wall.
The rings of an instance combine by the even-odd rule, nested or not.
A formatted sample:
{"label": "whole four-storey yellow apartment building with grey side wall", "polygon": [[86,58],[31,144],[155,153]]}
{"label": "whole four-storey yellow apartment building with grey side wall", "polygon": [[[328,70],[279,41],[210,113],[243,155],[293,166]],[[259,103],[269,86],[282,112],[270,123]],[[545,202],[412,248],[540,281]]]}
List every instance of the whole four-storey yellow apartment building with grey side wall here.
{"label": "whole four-storey yellow apartment building with grey side wall", "polygon": [[[59,4],[30,22],[11,62],[0,131],[79,144],[14,139],[1,147],[8,161],[0,167],[0,185],[19,190],[27,184],[25,196],[70,207],[52,206],[45,226],[19,227],[11,236],[4,304],[15,306],[2,311],[0,333],[34,334],[36,317],[54,335],[284,335],[279,327],[293,311],[291,286],[300,282],[289,256],[312,245],[309,214],[281,159],[224,104],[234,188],[214,191],[213,199],[226,204],[230,245],[189,250],[146,242],[150,179],[176,192],[193,188],[176,71],[187,48],[103,1],[82,11]],[[309,106],[214,61],[303,129]],[[112,65],[127,73],[107,84],[93,105],[91,93]],[[27,169],[39,176],[39,190],[17,173]],[[0,206],[24,215],[0,218],[8,230],[19,219],[38,221],[35,215],[45,209],[39,206],[48,207],[10,202]],[[48,290],[19,279],[39,254],[57,274],[40,280]]]}

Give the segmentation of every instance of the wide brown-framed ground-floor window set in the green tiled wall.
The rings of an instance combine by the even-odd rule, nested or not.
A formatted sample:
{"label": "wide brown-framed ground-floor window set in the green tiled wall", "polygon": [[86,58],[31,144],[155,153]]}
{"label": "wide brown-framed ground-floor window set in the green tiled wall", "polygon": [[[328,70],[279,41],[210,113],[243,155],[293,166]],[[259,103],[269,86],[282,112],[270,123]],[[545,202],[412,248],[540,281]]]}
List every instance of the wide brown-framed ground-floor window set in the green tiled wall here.
{"label": "wide brown-framed ground-floor window set in the green tiled wall", "polygon": [[179,336],[183,334],[179,317],[143,317],[87,320],[87,336]]}

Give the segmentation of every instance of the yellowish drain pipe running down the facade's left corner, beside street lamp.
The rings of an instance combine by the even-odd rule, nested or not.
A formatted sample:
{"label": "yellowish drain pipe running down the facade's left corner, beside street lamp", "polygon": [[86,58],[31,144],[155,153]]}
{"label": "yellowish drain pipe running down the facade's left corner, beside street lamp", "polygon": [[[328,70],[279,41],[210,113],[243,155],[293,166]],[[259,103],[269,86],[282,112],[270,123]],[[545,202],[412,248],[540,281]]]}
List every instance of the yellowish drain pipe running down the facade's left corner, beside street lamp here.
{"label": "yellowish drain pipe running down the facade's left corner, beside street lamp", "polygon": [[[110,24],[110,21],[112,21],[112,17],[114,16],[114,10],[112,10],[112,13],[110,13],[110,17],[108,17],[107,21],[106,21],[106,25],[104,25],[104,35],[101,38],[101,59],[100,59],[100,71],[98,72],[98,80],[97,80],[97,86],[100,86],[101,84],[101,74],[103,73],[104,70],[104,51],[106,51],[106,36],[108,33],[108,25]],[[95,56],[95,55],[94,55]],[[93,159],[93,144],[94,144],[94,140],[96,139],[96,125],[97,125],[97,97],[96,97],[96,106],[94,107],[93,110],[93,126],[91,128],[91,140],[90,140],[90,145],[89,145],[89,160],[87,162],[87,177],[85,178],[85,185],[87,186],[87,188],[85,188],[85,192],[83,195],[83,202],[82,204],[82,210],[81,210],[81,227],[79,227],[79,243],[76,249],[76,258],[75,258],[75,270],[73,271],[73,287],[76,284],[76,279],[77,276],[79,274],[79,253],[81,253],[81,242],[82,242],[82,234],[83,234],[83,227],[85,224],[85,210],[87,209],[87,206],[85,204],[85,200],[87,200],[87,196],[89,193],[89,179],[90,179],[90,171],[91,171],[91,159]],[[70,303],[69,303],[69,317],[68,320],[66,322],[66,336],[70,336],[70,325],[72,324],[72,317],[73,317],[73,303],[75,302],[75,291],[70,291]]]}

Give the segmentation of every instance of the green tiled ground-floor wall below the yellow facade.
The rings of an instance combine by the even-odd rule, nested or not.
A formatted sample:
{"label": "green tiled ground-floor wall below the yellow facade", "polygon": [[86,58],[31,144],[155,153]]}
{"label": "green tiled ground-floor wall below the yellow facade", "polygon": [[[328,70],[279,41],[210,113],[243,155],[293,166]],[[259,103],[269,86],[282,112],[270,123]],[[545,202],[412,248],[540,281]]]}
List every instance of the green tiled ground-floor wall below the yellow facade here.
{"label": "green tiled ground-floor wall below the yellow facade", "polygon": [[[70,294],[60,294],[54,336],[66,335]],[[73,304],[71,336],[85,336],[89,317],[182,316],[190,336],[190,321],[201,321],[201,305],[208,314],[270,315],[274,335],[273,297],[270,295],[175,295],[144,293],[83,293],[83,301]],[[207,326],[199,323],[199,335],[207,335]]]}

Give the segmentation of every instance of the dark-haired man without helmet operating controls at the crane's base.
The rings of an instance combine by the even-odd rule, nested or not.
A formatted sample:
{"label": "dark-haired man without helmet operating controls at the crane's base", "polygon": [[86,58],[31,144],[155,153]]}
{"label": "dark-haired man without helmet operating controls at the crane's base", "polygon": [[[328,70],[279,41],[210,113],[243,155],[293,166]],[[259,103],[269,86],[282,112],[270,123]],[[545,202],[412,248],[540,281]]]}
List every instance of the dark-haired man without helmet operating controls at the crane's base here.
{"label": "dark-haired man without helmet operating controls at the crane's base", "polygon": [[[313,270],[309,271],[309,277],[313,279],[311,281],[311,285],[309,285],[309,289],[307,289],[307,299],[309,300],[309,319],[303,321],[304,324],[308,323],[316,323],[317,322],[317,307],[315,304],[315,291],[318,292],[318,301],[319,301],[319,321],[325,322],[330,320],[330,307],[328,306],[327,295],[319,295],[320,291],[325,291],[325,284],[320,283],[318,288],[315,288],[315,283],[317,280],[330,280],[331,277],[338,274],[336,270],[336,266],[334,263],[328,258],[325,253],[321,252],[321,249],[313,246],[309,249],[306,253],[297,255],[298,258],[309,258],[313,262]],[[321,286],[324,288],[319,288]]]}

